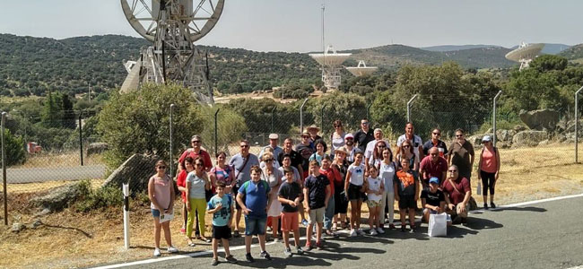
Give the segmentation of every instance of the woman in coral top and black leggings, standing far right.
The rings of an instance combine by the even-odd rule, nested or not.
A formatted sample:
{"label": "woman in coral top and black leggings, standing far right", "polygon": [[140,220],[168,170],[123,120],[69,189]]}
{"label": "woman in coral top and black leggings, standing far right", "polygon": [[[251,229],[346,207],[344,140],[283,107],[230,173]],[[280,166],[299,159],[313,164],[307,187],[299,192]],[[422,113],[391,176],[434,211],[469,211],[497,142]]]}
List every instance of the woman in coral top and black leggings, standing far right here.
{"label": "woman in coral top and black leggings, standing far right", "polygon": [[494,187],[500,173],[500,152],[492,144],[490,135],[484,135],[482,143],[482,154],[480,154],[480,163],[478,164],[478,178],[482,179],[483,208],[488,209],[488,204],[486,204],[488,190],[490,190],[490,207],[496,208],[496,204],[494,204]]}

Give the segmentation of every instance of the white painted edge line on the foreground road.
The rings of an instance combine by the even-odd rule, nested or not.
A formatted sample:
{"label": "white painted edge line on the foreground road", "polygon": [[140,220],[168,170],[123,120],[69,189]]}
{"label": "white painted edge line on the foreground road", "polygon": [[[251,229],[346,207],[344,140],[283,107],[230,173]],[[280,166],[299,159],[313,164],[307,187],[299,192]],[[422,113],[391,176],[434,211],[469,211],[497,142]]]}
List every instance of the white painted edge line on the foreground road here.
{"label": "white painted edge line on the foreground road", "polygon": [[[546,198],[546,199],[528,201],[528,202],[517,203],[517,204],[500,205],[498,208],[492,209],[491,211],[498,211],[498,210],[501,210],[504,208],[509,208],[509,207],[518,207],[518,206],[525,206],[525,205],[530,205],[530,204],[540,204],[540,203],[544,203],[544,202],[553,202],[553,201],[578,198],[578,197],[583,197],[583,194],[566,195],[566,196]],[[474,211],[471,211],[470,213],[478,213],[478,212],[483,212],[483,210],[482,209],[474,210]],[[306,239],[306,237],[301,237],[300,239],[304,240],[304,239]],[[265,243],[265,245],[274,245],[277,243],[279,243],[279,242],[271,241],[269,243]],[[258,244],[251,245],[251,247],[258,247],[258,246],[259,246]],[[245,246],[230,247],[230,249],[231,250],[245,249]],[[224,248],[219,248],[219,252],[223,252],[223,251],[224,251]],[[176,260],[176,259],[181,259],[181,258],[212,255],[212,254],[213,254],[213,250],[205,250],[205,251],[199,251],[199,252],[189,253],[189,254],[165,256],[165,257],[159,257],[159,258],[150,258],[150,259],[141,260],[141,261],[135,261],[135,262],[129,262],[129,263],[123,263],[123,264],[117,264],[117,265],[105,265],[105,266],[92,267],[92,268],[93,269],[111,269],[111,268],[121,268],[121,267],[126,267],[126,266],[133,266],[133,265],[149,265],[149,264],[163,262],[163,261],[170,261],[170,260]],[[583,266],[572,267],[570,269],[583,269]]]}

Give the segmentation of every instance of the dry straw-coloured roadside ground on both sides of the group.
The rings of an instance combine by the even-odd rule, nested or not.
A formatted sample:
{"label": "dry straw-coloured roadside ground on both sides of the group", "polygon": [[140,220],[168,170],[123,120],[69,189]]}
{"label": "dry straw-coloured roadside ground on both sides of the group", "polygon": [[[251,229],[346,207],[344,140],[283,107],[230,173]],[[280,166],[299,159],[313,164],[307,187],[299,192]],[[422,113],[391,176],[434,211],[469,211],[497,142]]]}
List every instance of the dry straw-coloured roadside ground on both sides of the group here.
{"label": "dry straw-coloured roadside ground on both sides of the group", "polygon": [[[583,167],[572,163],[572,145],[552,144],[544,147],[500,150],[502,167],[497,183],[497,204],[512,204],[546,197],[583,193]],[[476,160],[477,162],[477,160]],[[477,177],[474,176],[477,179]],[[475,196],[477,180],[472,180]],[[93,186],[99,186],[94,181]],[[27,208],[31,193],[22,192],[9,200],[10,222],[42,222],[36,229],[13,233],[10,226],[0,228],[0,267],[2,268],[75,268],[89,265],[134,261],[152,256],[152,217],[148,204],[131,203],[131,248],[124,249],[121,208],[107,208],[92,213],[61,213],[34,217],[36,210]],[[478,205],[481,197],[475,197]],[[364,218],[368,215],[362,206]],[[210,244],[196,241],[187,247],[180,234],[180,204],[171,222],[173,243],[184,252],[210,249]],[[398,217],[398,214],[396,215]],[[3,222],[4,220],[0,218]],[[0,222],[1,223],[1,222]],[[207,224],[210,218],[207,217]],[[243,227],[243,225],[241,225]],[[366,227],[366,225],[365,225]],[[210,231],[207,231],[210,236]],[[243,245],[232,239],[231,246]],[[163,241],[162,248],[166,246]],[[34,258],[29,258],[33,256]],[[168,254],[162,254],[168,256]]]}

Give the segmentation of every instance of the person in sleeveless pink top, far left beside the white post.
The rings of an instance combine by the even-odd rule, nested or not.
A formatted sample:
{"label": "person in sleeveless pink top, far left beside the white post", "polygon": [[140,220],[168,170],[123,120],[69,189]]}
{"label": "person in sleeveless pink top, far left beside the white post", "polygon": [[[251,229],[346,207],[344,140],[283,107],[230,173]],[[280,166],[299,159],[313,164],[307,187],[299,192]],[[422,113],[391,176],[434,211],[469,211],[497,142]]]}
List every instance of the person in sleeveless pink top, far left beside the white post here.
{"label": "person in sleeveless pink top, far left beside the white post", "polygon": [[154,256],[161,256],[160,253],[160,233],[164,229],[164,239],[168,245],[168,252],[176,253],[178,249],[172,247],[170,236],[170,221],[160,223],[161,214],[171,214],[174,205],[174,186],[172,179],[166,174],[166,162],[156,162],[156,174],[148,180],[148,197],[151,204],[150,209],[154,219]]}

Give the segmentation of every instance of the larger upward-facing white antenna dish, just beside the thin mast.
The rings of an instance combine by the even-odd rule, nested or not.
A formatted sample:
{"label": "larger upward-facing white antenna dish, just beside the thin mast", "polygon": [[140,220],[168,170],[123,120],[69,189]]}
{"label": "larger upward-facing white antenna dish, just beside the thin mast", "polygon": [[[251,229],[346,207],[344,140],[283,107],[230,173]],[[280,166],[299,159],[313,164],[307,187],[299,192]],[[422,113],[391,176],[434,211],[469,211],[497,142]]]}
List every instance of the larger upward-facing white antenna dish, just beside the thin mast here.
{"label": "larger upward-facing white antenna dish, just beside the thin mast", "polygon": [[341,82],[342,63],[351,55],[351,53],[337,53],[332,46],[328,46],[324,53],[309,54],[322,65],[322,82],[328,89],[338,89]]}

